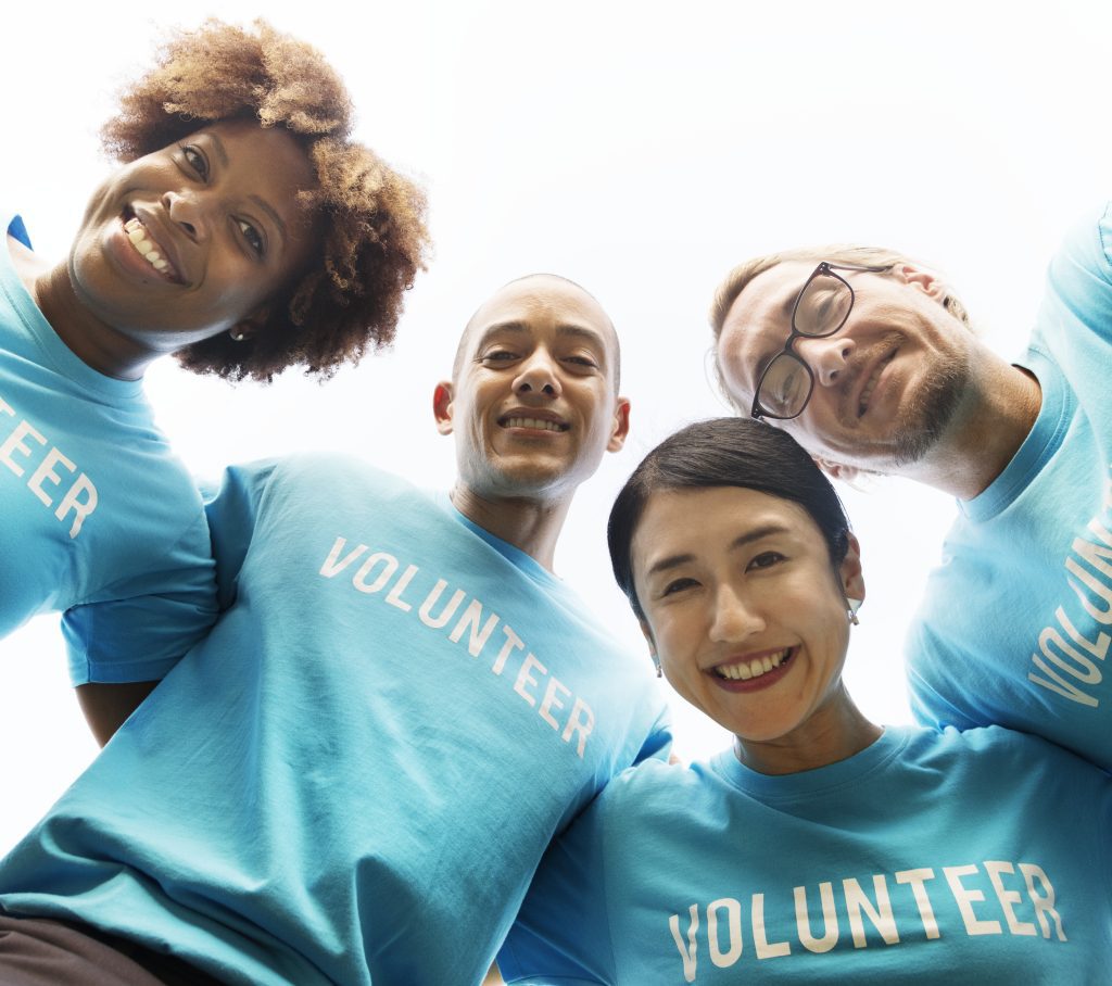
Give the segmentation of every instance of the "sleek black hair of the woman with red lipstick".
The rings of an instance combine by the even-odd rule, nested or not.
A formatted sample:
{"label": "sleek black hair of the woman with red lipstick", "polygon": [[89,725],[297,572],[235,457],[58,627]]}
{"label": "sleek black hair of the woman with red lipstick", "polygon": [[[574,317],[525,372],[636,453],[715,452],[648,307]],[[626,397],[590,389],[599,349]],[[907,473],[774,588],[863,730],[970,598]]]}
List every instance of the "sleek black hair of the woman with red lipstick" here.
{"label": "sleek black hair of the woman with red lipstick", "polygon": [[823,534],[831,565],[850,547],[850,519],[831,481],[786,431],[753,418],[712,418],[665,438],[634,469],[610,508],[606,540],[614,578],[639,619],[631,550],[653,494],[736,486],[798,504]]}

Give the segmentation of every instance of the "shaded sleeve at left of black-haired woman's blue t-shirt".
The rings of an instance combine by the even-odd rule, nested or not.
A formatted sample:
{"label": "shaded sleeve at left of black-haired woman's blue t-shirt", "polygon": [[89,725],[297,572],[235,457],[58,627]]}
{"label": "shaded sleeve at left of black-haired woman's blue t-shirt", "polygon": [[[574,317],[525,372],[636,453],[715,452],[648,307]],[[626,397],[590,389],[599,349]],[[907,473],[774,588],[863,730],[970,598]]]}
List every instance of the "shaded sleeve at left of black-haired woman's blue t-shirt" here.
{"label": "shaded sleeve at left of black-haired woman's blue t-shirt", "polygon": [[605,793],[549,846],[498,953],[507,983],[617,982],[603,867]]}

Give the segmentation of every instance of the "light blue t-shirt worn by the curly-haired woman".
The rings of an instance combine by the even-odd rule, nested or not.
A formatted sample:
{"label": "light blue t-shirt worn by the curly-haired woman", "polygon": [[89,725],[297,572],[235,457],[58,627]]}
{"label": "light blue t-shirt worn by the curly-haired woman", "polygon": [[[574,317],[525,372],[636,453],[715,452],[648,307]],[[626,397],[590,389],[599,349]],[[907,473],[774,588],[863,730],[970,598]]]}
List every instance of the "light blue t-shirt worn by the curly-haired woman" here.
{"label": "light blue t-shirt worn by the curly-haired woman", "polygon": [[75,685],[161,678],[217,615],[200,495],[141,384],[79,359],[0,246],[0,637],[66,610]]}

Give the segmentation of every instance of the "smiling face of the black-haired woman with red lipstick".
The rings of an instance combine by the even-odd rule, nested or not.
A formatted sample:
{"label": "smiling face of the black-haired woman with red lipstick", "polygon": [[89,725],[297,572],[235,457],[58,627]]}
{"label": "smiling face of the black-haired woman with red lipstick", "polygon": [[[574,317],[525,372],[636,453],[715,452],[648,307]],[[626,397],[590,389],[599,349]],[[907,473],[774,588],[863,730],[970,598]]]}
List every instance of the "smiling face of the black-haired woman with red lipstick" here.
{"label": "smiling face of the black-haired woman with red lipstick", "polygon": [[651,495],[631,559],[643,628],[672,686],[743,740],[792,741],[836,716],[864,598],[855,539],[832,567],[797,504],[739,487]]}

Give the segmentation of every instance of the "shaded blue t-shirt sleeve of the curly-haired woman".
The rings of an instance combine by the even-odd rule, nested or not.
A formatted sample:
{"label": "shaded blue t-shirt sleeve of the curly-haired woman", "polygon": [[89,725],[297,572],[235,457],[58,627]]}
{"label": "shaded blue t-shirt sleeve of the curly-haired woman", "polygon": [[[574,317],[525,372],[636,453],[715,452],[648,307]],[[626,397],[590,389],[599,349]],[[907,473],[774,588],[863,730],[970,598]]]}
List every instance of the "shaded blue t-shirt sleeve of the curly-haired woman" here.
{"label": "shaded blue t-shirt sleeve of the curly-haired woman", "polygon": [[70,680],[77,686],[163,678],[216,617],[208,525],[198,512],[158,561],[64,612]]}

